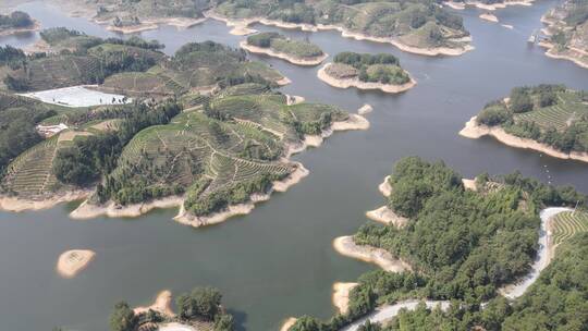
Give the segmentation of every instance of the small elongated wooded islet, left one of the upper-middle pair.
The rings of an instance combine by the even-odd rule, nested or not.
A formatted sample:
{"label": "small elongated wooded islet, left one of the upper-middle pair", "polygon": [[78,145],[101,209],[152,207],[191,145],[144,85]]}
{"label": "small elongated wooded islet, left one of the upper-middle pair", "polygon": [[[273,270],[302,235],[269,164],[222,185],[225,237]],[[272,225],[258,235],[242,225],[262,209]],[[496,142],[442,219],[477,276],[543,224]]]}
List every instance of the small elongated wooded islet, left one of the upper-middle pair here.
{"label": "small elongated wooded islet, left one of the upper-middle pair", "polygon": [[254,53],[280,58],[297,65],[318,65],[328,54],[309,41],[294,40],[278,33],[259,33],[247,37],[241,48]]}

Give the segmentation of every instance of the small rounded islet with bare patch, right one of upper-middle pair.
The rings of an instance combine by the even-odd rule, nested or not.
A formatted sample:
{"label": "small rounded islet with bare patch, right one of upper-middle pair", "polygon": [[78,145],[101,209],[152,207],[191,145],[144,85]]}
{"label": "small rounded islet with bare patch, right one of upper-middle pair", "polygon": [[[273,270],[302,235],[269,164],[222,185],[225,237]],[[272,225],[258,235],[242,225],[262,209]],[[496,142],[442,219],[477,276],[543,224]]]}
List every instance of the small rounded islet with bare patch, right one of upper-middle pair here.
{"label": "small rounded islet with bare patch, right one of upper-middle pair", "polygon": [[388,53],[341,52],[334,57],[333,63],[321,68],[317,76],[339,88],[380,89],[392,94],[416,85],[400,66],[399,59]]}

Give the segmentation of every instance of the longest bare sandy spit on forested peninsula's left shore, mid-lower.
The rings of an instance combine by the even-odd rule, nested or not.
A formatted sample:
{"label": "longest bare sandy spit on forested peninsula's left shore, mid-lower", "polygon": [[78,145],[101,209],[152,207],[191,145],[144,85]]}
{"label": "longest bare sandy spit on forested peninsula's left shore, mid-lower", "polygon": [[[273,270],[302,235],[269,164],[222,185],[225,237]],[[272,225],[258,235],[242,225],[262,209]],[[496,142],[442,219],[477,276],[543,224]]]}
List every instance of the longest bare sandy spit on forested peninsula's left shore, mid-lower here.
{"label": "longest bare sandy spit on forested peninsula's left shore, mid-lower", "polygon": [[333,248],[341,255],[375,263],[385,271],[402,272],[412,270],[408,263],[395,258],[385,249],[355,244],[351,235],[336,237],[333,241]]}

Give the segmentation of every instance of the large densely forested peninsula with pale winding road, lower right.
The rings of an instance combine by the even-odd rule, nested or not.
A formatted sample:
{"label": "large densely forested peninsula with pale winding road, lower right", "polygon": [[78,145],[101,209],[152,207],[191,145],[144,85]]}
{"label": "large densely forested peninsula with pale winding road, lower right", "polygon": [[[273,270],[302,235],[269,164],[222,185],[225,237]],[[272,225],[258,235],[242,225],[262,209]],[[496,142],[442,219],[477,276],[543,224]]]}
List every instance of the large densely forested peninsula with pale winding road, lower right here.
{"label": "large densely forested peninsula with pale winding road, lower right", "polygon": [[[581,226],[569,226],[575,221],[563,218],[543,220],[539,214],[547,207],[574,207],[577,201],[584,206],[588,197],[573,187],[548,186],[517,172],[495,177],[481,174],[468,188],[463,182],[443,162],[430,163],[416,157],[399,161],[383,185],[391,189],[387,208],[407,222],[366,223],[352,240],[358,247],[402,258],[411,269],[367,272],[357,285],[350,286],[347,311],[328,321],[304,316],[287,330],[413,330],[415,326],[437,322],[432,329],[445,326],[452,330],[502,330],[506,324],[517,329],[515,326],[532,322],[574,329],[585,324],[585,318],[576,311],[586,306],[578,301],[587,291],[584,273],[588,265],[581,247],[588,235],[581,232],[588,230],[588,213],[575,211],[574,218],[581,220]],[[561,245],[555,262],[523,296],[505,298],[501,295],[503,289],[518,285],[518,280],[531,270],[540,249],[540,229],[544,231],[544,223],[549,228],[553,222],[555,228],[572,230],[564,241],[556,241]],[[550,238],[562,235],[561,230],[550,229]],[[552,249],[554,243],[548,238],[548,245]],[[548,247],[542,252],[551,250]],[[560,277],[562,282],[556,287],[547,286],[551,279]],[[535,299],[544,295],[550,299]],[[551,299],[561,304],[548,305]],[[541,314],[541,319],[534,321],[534,314]],[[363,317],[388,326],[360,327]]]}

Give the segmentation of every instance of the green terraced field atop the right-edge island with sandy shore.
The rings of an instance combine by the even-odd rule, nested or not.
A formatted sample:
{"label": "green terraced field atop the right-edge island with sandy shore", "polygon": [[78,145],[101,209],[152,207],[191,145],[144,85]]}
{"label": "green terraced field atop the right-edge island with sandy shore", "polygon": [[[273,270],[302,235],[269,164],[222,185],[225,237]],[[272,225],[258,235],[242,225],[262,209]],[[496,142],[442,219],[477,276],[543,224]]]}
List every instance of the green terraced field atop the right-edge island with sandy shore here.
{"label": "green terraced field atop the right-edge island with sandy shore", "polygon": [[543,128],[554,126],[562,131],[572,121],[588,115],[588,105],[583,102],[578,94],[567,91],[558,94],[558,102],[551,107],[515,115],[515,120],[535,122]]}

